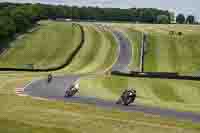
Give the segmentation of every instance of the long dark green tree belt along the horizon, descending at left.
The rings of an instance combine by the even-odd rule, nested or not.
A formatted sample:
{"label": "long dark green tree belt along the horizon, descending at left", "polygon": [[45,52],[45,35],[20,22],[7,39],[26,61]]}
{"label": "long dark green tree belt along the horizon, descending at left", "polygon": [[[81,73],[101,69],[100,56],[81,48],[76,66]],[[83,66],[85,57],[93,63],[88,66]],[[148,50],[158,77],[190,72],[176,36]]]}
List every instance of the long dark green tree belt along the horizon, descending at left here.
{"label": "long dark green tree belt along the horizon, descending at left", "polygon": [[[163,19],[173,19],[170,12],[152,8],[119,9],[0,3],[0,41],[7,41],[18,33],[26,32],[41,19],[73,18],[74,20],[158,23],[158,16],[161,15],[165,16],[162,17]],[[164,23],[170,23],[169,20],[164,20]],[[163,21],[159,19],[159,22]]]}

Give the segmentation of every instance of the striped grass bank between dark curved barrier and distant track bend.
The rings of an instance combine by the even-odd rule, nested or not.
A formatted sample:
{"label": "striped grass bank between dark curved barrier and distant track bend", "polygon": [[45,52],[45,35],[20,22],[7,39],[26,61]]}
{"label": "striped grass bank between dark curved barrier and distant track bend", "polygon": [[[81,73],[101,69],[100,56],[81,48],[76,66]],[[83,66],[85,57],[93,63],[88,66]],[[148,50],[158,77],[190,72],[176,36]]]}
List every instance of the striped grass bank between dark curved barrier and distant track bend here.
{"label": "striped grass bank between dark curved barrier and distant track bend", "polygon": [[71,73],[98,73],[110,68],[117,58],[117,44],[109,31],[85,25],[84,47],[65,68]]}

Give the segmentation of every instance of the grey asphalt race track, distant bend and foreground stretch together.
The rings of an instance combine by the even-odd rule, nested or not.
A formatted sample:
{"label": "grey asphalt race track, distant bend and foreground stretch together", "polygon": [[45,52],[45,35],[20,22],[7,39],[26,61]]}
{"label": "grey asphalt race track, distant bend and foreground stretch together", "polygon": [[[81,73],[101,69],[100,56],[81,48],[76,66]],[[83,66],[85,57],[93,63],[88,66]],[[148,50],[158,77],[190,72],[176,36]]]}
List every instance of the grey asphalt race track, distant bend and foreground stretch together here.
{"label": "grey asphalt race track, distant bend and foreground stretch together", "polygon": [[[128,64],[131,60],[131,45],[122,33],[113,31],[119,43],[119,58],[113,66],[112,71],[128,71]],[[130,53],[129,53],[130,52]],[[88,75],[87,75],[88,76]],[[75,83],[82,76],[67,75],[63,77],[54,77],[51,83],[47,83],[47,79],[36,80],[28,84],[24,88],[24,93],[33,97],[48,98],[52,100],[64,100],[66,102],[91,104],[107,109],[119,109],[127,112],[143,112],[147,114],[159,115],[161,117],[176,118],[179,120],[189,120],[200,123],[200,114],[192,112],[177,112],[170,109],[161,109],[158,107],[150,107],[139,104],[130,106],[116,105],[115,101],[106,101],[95,97],[79,97],[64,98],[66,89]],[[85,77],[85,76],[83,76]]]}

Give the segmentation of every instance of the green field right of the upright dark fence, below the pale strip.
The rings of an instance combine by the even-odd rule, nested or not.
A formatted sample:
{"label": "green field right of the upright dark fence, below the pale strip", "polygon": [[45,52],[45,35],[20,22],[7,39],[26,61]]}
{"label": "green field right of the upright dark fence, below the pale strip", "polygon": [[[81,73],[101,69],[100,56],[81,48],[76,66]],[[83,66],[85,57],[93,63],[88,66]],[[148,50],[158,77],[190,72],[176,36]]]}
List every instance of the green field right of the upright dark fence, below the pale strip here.
{"label": "green field right of the upright dark fence, below the pale strip", "polygon": [[150,34],[145,70],[198,74],[199,37],[198,33],[188,33],[182,37],[170,37],[162,33]]}

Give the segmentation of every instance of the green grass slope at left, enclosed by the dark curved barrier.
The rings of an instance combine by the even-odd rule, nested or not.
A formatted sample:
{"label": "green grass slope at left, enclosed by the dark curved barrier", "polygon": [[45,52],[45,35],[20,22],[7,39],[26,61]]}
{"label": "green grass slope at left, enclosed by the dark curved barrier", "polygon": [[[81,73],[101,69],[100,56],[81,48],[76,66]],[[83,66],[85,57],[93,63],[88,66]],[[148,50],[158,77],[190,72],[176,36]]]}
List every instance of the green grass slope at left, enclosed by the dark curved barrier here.
{"label": "green grass slope at left, enclosed by the dark curved barrier", "polygon": [[79,46],[81,30],[66,22],[40,22],[39,29],[27,33],[11,43],[11,48],[0,56],[0,68],[46,69],[61,66]]}

